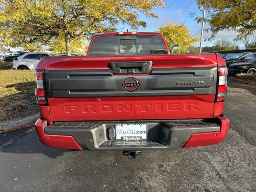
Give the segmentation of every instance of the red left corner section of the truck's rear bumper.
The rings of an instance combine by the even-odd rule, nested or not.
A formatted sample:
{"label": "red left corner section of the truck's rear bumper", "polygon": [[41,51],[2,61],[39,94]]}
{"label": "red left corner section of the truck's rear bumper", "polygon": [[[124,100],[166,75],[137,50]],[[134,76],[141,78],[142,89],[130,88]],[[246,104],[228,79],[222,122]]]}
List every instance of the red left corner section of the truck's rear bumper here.
{"label": "red left corner section of the truck's rear bumper", "polygon": [[44,127],[47,125],[46,120],[38,119],[35,125],[38,138],[45,146],[82,150],[72,136],[44,134]]}

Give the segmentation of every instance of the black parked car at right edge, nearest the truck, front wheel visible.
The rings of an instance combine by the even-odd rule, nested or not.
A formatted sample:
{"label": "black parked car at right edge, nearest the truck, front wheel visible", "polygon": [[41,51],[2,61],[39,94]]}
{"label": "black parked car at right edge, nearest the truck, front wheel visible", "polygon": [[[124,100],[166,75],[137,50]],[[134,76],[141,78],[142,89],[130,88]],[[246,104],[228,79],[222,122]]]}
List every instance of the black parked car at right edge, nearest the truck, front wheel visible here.
{"label": "black parked car at right edge, nearest the truck, front wheel visible", "polygon": [[235,75],[238,73],[256,74],[256,58],[247,62],[233,63],[228,66],[228,75]]}

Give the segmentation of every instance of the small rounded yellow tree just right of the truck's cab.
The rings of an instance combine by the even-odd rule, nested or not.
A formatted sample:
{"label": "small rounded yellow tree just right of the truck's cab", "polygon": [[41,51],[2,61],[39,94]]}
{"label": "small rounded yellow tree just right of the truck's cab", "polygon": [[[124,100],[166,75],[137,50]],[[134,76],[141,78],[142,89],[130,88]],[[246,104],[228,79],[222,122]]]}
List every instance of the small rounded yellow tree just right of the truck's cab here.
{"label": "small rounded yellow tree just right of the truck's cab", "polygon": [[157,32],[163,34],[172,53],[188,52],[188,48],[199,41],[198,37],[192,37],[184,24],[166,24],[158,28]]}

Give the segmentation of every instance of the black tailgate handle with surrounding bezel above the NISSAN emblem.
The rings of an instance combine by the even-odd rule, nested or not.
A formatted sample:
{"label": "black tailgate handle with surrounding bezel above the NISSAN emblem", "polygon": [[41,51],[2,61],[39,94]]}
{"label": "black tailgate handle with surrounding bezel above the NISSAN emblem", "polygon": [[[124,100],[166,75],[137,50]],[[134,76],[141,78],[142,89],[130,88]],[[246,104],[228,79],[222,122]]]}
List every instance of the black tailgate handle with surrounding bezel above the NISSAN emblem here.
{"label": "black tailgate handle with surrounding bezel above the NISSAN emblem", "polygon": [[109,68],[114,75],[149,74],[152,61],[109,62]]}

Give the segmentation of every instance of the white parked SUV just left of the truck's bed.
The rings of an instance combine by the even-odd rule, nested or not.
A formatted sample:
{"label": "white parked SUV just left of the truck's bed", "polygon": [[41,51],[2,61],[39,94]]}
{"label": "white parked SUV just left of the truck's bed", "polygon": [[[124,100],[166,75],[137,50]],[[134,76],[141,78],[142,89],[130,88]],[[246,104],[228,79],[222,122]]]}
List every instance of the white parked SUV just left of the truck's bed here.
{"label": "white parked SUV just left of the truck's bed", "polygon": [[12,62],[12,68],[14,69],[30,69],[34,70],[36,69],[36,65],[38,64],[39,60],[42,57],[52,57],[54,54],[50,53],[39,53],[39,52],[30,52],[25,53],[22,56],[19,56],[18,58],[14,58]]}

